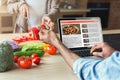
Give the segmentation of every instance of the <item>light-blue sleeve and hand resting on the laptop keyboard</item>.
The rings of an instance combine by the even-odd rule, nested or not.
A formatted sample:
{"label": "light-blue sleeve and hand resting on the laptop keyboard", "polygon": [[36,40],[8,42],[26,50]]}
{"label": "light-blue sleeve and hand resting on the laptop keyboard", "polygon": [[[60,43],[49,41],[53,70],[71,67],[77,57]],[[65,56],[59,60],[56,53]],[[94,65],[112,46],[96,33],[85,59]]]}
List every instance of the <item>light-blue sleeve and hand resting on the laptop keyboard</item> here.
{"label": "light-blue sleeve and hand resting on the laptop keyboard", "polygon": [[[99,49],[101,52],[97,52]],[[91,48],[91,53],[105,59],[80,58],[76,60],[73,64],[73,70],[81,80],[120,79],[118,75],[120,74],[120,52],[117,52],[107,43],[98,43]]]}

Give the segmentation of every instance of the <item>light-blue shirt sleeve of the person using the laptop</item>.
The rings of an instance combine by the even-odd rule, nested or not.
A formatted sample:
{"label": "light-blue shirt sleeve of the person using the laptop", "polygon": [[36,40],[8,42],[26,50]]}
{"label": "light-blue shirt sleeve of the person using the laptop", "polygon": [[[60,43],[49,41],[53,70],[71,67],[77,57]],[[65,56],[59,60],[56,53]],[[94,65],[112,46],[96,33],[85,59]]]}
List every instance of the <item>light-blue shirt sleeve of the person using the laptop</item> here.
{"label": "light-blue shirt sleeve of the person using the laptop", "polygon": [[80,80],[119,80],[120,52],[116,51],[104,60],[77,59],[73,70]]}

